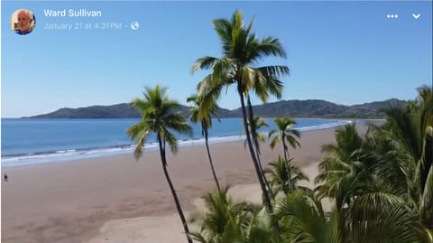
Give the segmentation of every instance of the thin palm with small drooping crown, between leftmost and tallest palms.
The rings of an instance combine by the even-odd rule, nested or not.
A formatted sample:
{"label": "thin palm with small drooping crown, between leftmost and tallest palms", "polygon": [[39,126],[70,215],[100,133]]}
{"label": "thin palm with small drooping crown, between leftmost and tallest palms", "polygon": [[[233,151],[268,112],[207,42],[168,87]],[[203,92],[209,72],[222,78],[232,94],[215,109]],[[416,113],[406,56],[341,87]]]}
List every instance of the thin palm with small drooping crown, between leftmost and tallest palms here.
{"label": "thin palm with small drooping crown, between leftmost and tallest palms", "polygon": [[[216,116],[217,117],[217,104],[216,103],[205,103],[205,102],[201,102],[198,96],[191,96],[189,98],[187,98],[188,102],[194,102],[195,107],[191,107],[190,112],[191,112],[191,117],[190,120],[193,123],[198,123],[200,122],[201,124],[201,134],[203,136],[205,136],[205,143],[206,143],[206,150],[207,150],[207,157],[209,159],[209,163],[210,163],[210,168],[212,170],[212,175],[214,176],[214,180],[215,183],[217,184],[217,189],[218,191],[221,190],[220,186],[219,186],[219,182],[218,182],[218,178],[217,178],[217,173],[215,173],[215,168],[214,168],[214,164],[212,162],[212,156],[210,155],[210,151],[209,151],[209,144],[208,144],[208,129],[209,127],[212,126],[212,117],[211,116]],[[207,105],[207,107],[205,107],[204,105]]]}

